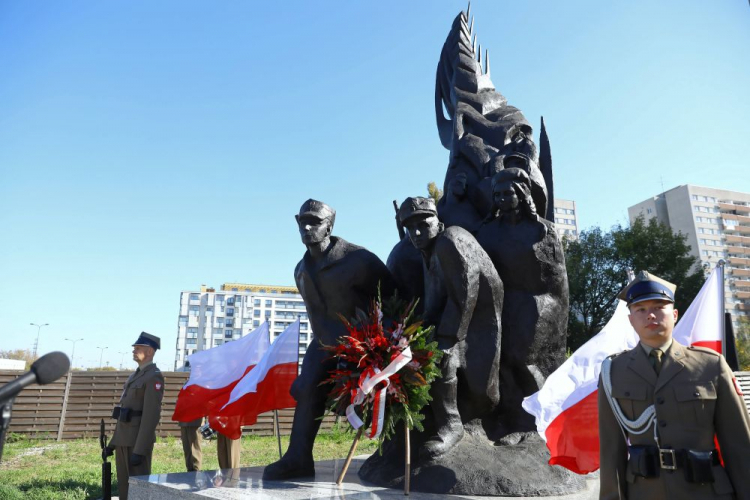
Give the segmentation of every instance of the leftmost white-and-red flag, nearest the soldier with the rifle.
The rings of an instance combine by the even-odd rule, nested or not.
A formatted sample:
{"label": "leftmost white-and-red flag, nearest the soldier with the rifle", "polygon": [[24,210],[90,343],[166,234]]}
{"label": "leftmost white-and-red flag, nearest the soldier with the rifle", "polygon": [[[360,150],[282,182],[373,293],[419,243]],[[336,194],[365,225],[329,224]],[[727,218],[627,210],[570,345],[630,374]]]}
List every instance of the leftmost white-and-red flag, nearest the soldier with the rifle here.
{"label": "leftmost white-and-red flag, nearest the soldier with the rifle", "polygon": [[190,378],[177,395],[172,420],[190,422],[217,412],[242,377],[260,362],[270,344],[265,322],[239,340],[188,356]]}

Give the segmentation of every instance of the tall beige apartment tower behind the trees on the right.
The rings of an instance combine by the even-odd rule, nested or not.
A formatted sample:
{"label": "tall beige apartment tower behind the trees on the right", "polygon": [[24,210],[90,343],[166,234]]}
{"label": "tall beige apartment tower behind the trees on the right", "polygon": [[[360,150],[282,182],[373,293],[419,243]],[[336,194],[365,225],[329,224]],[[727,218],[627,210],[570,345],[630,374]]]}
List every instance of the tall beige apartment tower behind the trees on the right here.
{"label": "tall beige apartment tower behind the trees on the right", "polygon": [[631,223],[643,215],[687,236],[699,265],[726,261],[726,310],[736,321],[750,312],[750,194],[689,184],[628,208]]}

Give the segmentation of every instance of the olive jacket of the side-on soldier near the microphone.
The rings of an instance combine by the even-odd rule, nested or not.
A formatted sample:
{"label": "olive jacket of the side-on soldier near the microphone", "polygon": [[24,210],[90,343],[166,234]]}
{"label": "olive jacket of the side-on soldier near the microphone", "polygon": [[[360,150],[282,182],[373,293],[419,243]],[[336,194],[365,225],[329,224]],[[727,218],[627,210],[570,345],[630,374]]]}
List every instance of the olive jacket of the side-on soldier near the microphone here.
{"label": "olive jacket of the side-on soldier near the microphone", "polygon": [[132,416],[129,422],[118,420],[109,444],[130,446],[133,453],[147,455],[156,442],[163,397],[164,376],[155,364],[130,375],[120,396],[120,407],[143,413]]}

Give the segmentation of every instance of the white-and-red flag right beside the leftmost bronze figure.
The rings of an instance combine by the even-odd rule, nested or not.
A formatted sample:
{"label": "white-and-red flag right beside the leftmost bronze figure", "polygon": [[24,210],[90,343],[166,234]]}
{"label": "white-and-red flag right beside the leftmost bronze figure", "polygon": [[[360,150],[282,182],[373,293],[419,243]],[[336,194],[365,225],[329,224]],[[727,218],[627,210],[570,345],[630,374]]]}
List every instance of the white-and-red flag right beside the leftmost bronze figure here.
{"label": "white-and-red flag right beside the leftmost bronze figure", "polygon": [[[253,425],[261,413],[297,405],[289,391],[297,378],[299,327],[298,319],[274,340],[258,366],[232,389],[227,403],[216,412],[219,419]],[[240,436],[236,429],[216,430],[231,439]]]}

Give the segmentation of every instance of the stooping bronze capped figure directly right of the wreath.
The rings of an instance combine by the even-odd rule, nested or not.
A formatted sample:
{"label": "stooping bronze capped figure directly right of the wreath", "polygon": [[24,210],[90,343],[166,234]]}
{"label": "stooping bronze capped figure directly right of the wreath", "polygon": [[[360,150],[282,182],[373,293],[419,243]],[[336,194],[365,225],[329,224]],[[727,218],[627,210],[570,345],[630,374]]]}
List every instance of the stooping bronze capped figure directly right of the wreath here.
{"label": "stooping bronze capped figure directly right of the wreath", "polygon": [[503,286],[474,237],[438,220],[432,199],[407,198],[398,216],[422,254],[423,318],[445,352],[442,377],[430,389],[435,431],[420,448],[434,458],[461,440],[464,422],[488,417],[499,404]]}

